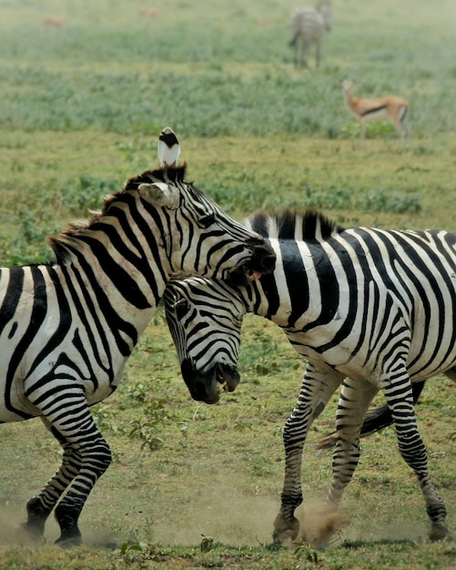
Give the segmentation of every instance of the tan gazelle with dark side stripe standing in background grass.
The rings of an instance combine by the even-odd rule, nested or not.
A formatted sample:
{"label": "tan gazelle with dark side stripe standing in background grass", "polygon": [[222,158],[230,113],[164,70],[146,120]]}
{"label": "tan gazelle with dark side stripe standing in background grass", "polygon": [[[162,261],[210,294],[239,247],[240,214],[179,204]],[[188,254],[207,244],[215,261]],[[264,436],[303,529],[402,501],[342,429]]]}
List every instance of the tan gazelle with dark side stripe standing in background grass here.
{"label": "tan gazelle with dark side stripe standing in background grass", "polygon": [[350,113],[360,121],[360,141],[364,140],[367,121],[386,119],[396,127],[402,146],[404,137],[409,135],[409,129],[404,122],[409,107],[408,102],[397,96],[361,99],[351,95],[352,89],[353,82],[345,79],[342,82],[344,102]]}

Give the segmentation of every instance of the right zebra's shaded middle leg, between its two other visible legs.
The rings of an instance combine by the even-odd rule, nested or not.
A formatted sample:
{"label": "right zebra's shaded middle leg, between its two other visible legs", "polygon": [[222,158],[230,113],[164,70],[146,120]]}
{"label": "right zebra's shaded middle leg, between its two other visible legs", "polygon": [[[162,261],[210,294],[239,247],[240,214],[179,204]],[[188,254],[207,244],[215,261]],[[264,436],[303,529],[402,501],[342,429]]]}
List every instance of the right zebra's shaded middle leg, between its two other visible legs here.
{"label": "right zebra's shaded middle leg, between its two other visible legs", "polygon": [[360,460],[361,425],[378,391],[370,382],[351,378],[343,382],[336,412],[337,442],[332,455],[332,481],[327,499],[331,511],[339,505]]}

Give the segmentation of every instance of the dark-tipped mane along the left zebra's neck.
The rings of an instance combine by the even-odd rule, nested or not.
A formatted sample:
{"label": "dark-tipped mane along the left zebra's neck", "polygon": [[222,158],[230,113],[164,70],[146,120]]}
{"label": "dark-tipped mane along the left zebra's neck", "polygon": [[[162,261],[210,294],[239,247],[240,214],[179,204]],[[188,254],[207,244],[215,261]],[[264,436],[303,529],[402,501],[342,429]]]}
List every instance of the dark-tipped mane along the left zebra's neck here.
{"label": "dark-tipped mane along the left zebra's neck", "polygon": [[[70,222],[66,229],[54,236],[47,237],[47,243],[54,250],[56,260],[65,263],[71,257],[68,252],[68,243],[75,238],[82,236],[89,229],[94,229],[94,226],[107,215],[109,207],[119,199],[123,199],[126,192],[137,191],[140,184],[151,182],[183,182],[185,179],[187,164],[184,163],[178,166],[170,166],[167,168],[157,168],[156,170],[146,170],[139,176],[129,178],[122,190],[114,194],[106,196],[103,200],[103,206],[100,211],[91,211],[93,218],[90,220],[78,219]],[[197,191],[197,188],[192,188]]]}

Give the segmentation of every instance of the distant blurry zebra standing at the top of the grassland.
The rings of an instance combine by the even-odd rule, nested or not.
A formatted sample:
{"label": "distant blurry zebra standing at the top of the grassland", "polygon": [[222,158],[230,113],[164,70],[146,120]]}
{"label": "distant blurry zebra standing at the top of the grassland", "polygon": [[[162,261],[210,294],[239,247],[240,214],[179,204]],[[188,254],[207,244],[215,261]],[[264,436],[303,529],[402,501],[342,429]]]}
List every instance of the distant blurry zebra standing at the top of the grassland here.
{"label": "distant blurry zebra standing at the top of the grassland", "polygon": [[[332,15],[329,0],[320,0],[313,8],[296,8],[291,15],[291,41],[295,51],[295,66],[307,67],[306,54],[310,44],[316,45],[316,66],[319,66],[321,38],[331,29]],[[300,43],[300,46],[299,46]]]}

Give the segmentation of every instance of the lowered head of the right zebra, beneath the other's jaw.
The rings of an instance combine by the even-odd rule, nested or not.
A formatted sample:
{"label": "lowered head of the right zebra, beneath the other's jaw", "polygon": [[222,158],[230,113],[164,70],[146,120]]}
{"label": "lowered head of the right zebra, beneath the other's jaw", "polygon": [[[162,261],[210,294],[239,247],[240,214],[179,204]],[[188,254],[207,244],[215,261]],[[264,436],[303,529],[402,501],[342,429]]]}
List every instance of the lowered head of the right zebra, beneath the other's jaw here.
{"label": "lowered head of the right zebra, beneath the other's jaw", "polygon": [[171,280],[164,295],[167,324],[180,369],[194,400],[216,403],[233,392],[240,329],[246,306],[239,291],[221,280]]}

